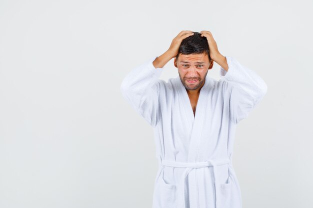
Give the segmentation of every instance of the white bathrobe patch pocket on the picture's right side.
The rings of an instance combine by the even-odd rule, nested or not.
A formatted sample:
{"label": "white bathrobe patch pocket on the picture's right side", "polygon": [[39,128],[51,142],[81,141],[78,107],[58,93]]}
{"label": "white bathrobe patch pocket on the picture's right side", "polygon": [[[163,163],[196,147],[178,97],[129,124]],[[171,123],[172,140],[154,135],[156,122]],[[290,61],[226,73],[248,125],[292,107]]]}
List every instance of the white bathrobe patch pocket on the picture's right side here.
{"label": "white bathrobe patch pocket on the picture's right side", "polygon": [[216,184],[216,207],[217,208],[230,208],[232,181],[228,178],[228,183]]}

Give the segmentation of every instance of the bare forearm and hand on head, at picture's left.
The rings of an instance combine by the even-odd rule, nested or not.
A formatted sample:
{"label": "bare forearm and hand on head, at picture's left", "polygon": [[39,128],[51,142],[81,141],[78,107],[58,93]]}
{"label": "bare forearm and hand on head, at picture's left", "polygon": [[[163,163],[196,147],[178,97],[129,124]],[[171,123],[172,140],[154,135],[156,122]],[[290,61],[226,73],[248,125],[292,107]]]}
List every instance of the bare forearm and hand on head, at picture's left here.
{"label": "bare forearm and hand on head, at picture's left", "polygon": [[183,30],[179,32],[178,35],[171,41],[169,48],[162,55],[155,58],[153,66],[155,68],[162,68],[170,59],[176,57],[181,41],[193,34],[194,33],[190,30]]}

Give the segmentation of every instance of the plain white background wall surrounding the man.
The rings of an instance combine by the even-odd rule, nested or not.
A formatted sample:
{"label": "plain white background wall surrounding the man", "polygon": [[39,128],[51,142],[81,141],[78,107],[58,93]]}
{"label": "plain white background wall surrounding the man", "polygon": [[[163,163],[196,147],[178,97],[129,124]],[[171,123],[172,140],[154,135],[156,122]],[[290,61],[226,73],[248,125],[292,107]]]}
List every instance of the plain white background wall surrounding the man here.
{"label": "plain white background wall surrounding the man", "polygon": [[[209,30],[267,84],[237,125],[243,208],[313,204],[311,0],[1,0],[0,208],[150,208],[152,127],[123,77]],[[214,63],[208,76],[218,79]],[[161,78],[177,76],[172,60]]]}

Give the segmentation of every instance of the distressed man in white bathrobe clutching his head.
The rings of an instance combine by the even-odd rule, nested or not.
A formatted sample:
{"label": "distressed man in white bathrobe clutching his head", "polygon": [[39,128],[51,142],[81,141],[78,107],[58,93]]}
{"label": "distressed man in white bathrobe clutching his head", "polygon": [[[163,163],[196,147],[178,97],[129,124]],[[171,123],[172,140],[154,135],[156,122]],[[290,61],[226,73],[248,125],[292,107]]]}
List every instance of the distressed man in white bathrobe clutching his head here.
{"label": "distressed man in white bathrobe clutching his head", "polygon": [[[172,58],[179,76],[158,79]],[[206,76],[213,62],[218,81]],[[267,92],[262,78],[221,55],[211,32],[181,31],[166,52],[124,78],[121,92],[155,133],[152,208],[241,208],[234,132]]]}

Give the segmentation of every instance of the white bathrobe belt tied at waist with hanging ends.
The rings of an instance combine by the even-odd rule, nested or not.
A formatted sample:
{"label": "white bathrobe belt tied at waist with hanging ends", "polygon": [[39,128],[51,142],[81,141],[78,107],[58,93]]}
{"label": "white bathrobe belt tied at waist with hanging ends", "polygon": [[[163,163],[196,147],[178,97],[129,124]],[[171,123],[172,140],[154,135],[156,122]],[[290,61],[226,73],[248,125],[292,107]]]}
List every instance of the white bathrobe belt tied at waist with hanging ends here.
{"label": "white bathrobe belt tied at waist with hanging ends", "polygon": [[[219,165],[224,165],[224,164],[228,164],[230,163],[229,159],[214,159],[214,160],[207,160],[206,162],[197,162],[197,163],[183,163],[183,162],[175,162],[175,161],[169,161],[169,160],[162,160],[161,164],[163,166],[168,166],[168,167],[175,167],[175,168],[186,168],[185,171],[183,172],[182,176],[181,176],[181,180],[180,180],[180,189],[182,191],[181,193],[181,203],[182,203],[182,207],[181,208],[185,208],[185,179],[188,176],[189,172],[192,169],[195,168],[205,168],[205,167],[213,167],[213,175],[214,175],[214,191],[215,191],[215,208],[216,208],[216,201],[217,201],[217,197],[218,195],[216,195],[216,174],[215,174],[215,167],[219,166]],[[178,201],[178,202],[179,202]]]}

